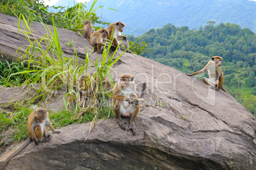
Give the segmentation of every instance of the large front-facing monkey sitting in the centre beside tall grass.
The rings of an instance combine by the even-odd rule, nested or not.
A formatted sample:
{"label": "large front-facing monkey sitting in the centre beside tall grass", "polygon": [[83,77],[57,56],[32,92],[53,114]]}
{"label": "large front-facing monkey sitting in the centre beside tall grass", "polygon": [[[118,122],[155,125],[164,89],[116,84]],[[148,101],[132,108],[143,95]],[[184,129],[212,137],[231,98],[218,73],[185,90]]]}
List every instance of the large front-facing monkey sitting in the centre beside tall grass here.
{"label": "large front-facing monkey sitting in the centre beside tall grass", "polygon": [[[113,88],[113,101],[115,120],[118,125],[124,131],[132,130],[132,134],[136,134],[136,125],[134,119],[139,112],[139,99],[135,94],[136,85],[134,83],[134,76],[129,73],[121,74],[120,80],[115,83]],[[143,92],[141,97],[144,95],[146,89],[146,83],[143,83]],[[121,117],[129,117],[129,125],[121,119]]]}

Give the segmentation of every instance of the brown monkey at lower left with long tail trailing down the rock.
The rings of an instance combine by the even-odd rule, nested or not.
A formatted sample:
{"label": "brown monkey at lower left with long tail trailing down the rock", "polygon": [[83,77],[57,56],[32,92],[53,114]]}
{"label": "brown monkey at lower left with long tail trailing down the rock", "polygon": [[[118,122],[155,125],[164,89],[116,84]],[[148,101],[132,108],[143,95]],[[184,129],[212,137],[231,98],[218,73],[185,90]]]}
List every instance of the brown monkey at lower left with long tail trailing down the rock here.
{"label": "brown monkey at lower left with long tail trailing down the rock", "polygon": [[45,108],[38,108],[33,110],[27,120],[27,132],[29,134],[29,139],[24,143],[24,145],[22,145],[16,152],[11,154],[10,157],[4,161],[3,165],[1,166],[1,170],[4,169],[11,158],[20,153],[32,141],[34,141],[36,145],[50,141],[52,136],[48,134],[48,127],[52,129],[53,134],[60,133],[60,131],[55,131],[55,129],[52,127],[48,112],[45,110]]}

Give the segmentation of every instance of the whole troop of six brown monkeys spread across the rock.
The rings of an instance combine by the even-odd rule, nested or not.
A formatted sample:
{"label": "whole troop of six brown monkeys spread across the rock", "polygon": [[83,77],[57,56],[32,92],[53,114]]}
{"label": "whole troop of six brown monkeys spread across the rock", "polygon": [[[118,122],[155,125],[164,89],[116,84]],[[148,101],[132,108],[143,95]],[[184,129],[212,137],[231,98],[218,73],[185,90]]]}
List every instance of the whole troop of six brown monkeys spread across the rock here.
{"label": "whole troop of six brown monkeys spread across the rock", "polygon": [[[78,31],[85,31],[85,38],[90,38],[90,44],[94,46],[94,50],[97,52],[102,52],[104,48],[104,40],[106,38],[111,39],[114,42],[115,48],[119,45],[120,41],[121,45],[125,45],[125,49],[129,47],[128,40],[126,36],[121,35],[121,32],[124,31],[124,26],[122,22],[115,22],[110,24],[108,29],[99,29],[99,31],[92,32],[92,24],[90,24],[89,20],[84,22],[85,27],[83,29],[78,29]],[[111,38],[109,32],[113,31],[113,38]],[[107,45],[106,45],[107,46]],[[128,49],[129,50],[129,49]],[[213,56],[211,60],[204,66],[203,69],[197,71],[192,74],[186,73],[188,76],[194,76],[196,74],[202,74],[208,71],[209,78],[203,77],[205,83],[210,85],[212,89],[215,90],[224,90],[227,92],[224,87],[222,87],[222,83],[224,80],[223,72],[220,66],[222,65],[222,57]],[[114,113],[115,120],[121,129],[132,131],[132,134],[136,134],[136,125],[134,124],[134,119],[136,118],[139,112],[139,101],[143,100],[143,95],[146,90],[146,83],[143,83],[142,92],[140,98],[136,96],[136,84],[134,82],[134,76],[129,73],[121,74],[120,79],[115,83],[113,88],[113,101],[114,105]],[[228,92],[227,92],[228,93]],[[125,122],[121,117],[129,118],[129,122]],[[25,146],[29,145],[32,141],[36,145],[38,143],[48,142],[52,138],[50,134],[48,134],[48,127],[52,129],[53,134],[59,134],[60,131],[55,131],[50,123],[48,112],[45,108],[38,108],[31,112],[29,118],[27,120],[27,132],[29,133],[29,139],[26,141],[24,145],[22,145],[15,153],[10,155],[8,159],[4,161],[1,166],[1,170],[4,170],[7,162],[21,152]]]}

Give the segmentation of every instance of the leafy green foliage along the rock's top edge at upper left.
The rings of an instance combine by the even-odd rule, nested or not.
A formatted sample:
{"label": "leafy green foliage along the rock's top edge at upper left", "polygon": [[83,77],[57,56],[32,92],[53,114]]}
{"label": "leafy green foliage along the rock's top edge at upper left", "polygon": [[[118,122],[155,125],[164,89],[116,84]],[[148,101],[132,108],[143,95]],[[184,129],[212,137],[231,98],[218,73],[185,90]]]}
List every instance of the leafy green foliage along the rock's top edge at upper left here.
{"label": "leafy green foliage along the rock's top edge at upper left", "polygon": [[53,17],[57,27],[76,31],[76,29],[83,27],[84,20],[90,20],[92,24],[109,24],[109,22],[99,20],[99,17],[96,16],[95,11],[102,7],[99,6],[95,8],[96,2],[97,0],[92,2],[92,6],[89,10],[86,10],[85,3],[75,4],[73,7],[67,8],[66,10],[64,10],[62,6],[53,6],[52,8],[57,10],[57,13],[53,13],[48,11],[48,5],[45,6],[43,1],[39,0],[0,1],[0,12],[14,17],[22,14],[25,19],[29,20],[30,24],[32,24],[33,21],[36,21],[53,25]]}

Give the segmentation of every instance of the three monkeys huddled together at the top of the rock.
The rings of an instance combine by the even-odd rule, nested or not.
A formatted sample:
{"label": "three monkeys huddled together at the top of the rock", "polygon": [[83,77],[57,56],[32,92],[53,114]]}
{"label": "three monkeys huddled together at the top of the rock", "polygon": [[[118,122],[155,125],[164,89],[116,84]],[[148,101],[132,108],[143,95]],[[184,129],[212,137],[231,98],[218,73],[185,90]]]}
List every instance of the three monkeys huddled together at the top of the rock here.
{"label": "three monkeys huddled together at the top of the rock", "polygon": [[[85,20],[83,22],[84,27],[82,29],[76,29],[76,31],[84,31],[85,39],[90,41],[90,45],[94,47],[94,52],[102,53],[106,41],[111,44],[110,49],[114,50],[118,48],[118,50],[127,50],[126,52],[132,53],[129,48],[128,39],[126,36],[122,35],[121,32],[124,31],[125,24],[118,21],[108,26],[108,29],[99,29],[98,31],[94,31],[92,24],[89,20]],[[108,43],[106,43],[106,47],[108,48]],[[118,46],[119,45],[119,46]],[[125,49],[120,48],[120,46],[124,45]]]}

